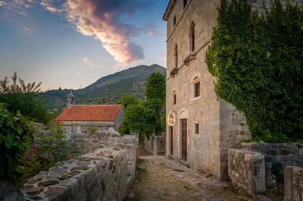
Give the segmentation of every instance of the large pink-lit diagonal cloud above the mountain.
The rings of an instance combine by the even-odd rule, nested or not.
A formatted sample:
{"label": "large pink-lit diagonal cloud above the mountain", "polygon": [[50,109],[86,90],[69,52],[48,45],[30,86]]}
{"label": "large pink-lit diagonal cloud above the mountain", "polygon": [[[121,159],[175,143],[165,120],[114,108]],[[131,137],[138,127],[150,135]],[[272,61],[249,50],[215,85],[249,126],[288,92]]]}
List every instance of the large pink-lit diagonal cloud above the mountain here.
{"label": "large pink-lit diagonal cloud above the mountain", "polygon": [[68,0],[64,8],[77,31],[99,39],[118,65],[128,65],[144,58],[143,48],[131,41],[139,29],[120,22],[118,17],[132,15],[142,6],[140,0]]}

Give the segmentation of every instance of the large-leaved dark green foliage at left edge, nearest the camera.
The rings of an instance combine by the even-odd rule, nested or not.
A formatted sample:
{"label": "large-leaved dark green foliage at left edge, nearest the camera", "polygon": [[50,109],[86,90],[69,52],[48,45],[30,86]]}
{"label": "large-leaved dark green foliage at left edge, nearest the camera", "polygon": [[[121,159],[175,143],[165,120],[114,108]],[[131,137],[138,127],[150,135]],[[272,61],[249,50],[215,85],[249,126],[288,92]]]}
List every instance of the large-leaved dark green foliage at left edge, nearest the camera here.
{"label": "large-leaved dark green foliage at left edge, nearest the camera", "polygon": [[0,103],[0,177],[12,179],[21,185],[25,173],[24,156],[33,140],[34,128],[31,122],[16,112],[9,112]]}

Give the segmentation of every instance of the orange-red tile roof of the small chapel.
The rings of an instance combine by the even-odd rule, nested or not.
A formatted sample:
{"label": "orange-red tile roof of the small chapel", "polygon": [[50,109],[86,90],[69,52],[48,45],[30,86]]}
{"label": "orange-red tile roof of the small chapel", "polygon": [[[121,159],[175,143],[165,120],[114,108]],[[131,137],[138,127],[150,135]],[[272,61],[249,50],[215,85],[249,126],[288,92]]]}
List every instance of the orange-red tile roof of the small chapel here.
{"label": "orange-red tile roof of the small chapel", "polygon": [[114,121],[122,105],[73,105],[55,121]]}

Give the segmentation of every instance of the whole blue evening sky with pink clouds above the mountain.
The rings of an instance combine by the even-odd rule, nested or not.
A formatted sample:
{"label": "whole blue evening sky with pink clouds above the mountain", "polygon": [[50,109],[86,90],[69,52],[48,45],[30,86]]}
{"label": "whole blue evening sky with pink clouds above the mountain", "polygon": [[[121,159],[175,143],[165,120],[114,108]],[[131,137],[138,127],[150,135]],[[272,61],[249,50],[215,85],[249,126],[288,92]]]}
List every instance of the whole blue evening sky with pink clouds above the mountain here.
{"label": "whole blue evening sky with pink clouds above the mountain", "polygon": [[0,80],[84,88],[137,66],[166,68],[169,0],[0,0]]}

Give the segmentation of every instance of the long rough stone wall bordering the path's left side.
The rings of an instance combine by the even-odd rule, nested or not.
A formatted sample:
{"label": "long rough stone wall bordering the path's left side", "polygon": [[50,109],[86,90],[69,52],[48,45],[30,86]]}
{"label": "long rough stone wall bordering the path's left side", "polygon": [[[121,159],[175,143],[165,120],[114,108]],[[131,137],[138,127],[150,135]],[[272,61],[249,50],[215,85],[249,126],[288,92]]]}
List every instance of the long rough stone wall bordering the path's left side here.
{"label": "long rough stone wall bordering the path's left side", "polygon": [[139,139],[137,133],[119,138],[110,132],[97,133],[108,136],[106,148],[56,163],[29,179],[24,190],[0,182],[0,200],[122,200],[134,179]]}

